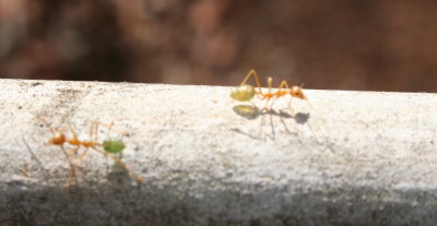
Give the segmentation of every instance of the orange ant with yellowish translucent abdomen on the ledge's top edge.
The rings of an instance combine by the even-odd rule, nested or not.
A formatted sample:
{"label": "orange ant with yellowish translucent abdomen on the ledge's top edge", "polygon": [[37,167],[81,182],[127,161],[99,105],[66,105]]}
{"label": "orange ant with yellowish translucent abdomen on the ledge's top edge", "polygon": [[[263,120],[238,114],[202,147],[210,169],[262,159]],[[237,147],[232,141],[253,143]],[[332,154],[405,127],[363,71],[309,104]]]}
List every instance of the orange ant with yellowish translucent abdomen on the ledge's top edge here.
{"label": "orange ant with yellowish translucent abdomen on the ledge's top edge", "polygon": [[[247,80],[249,80],[251,75],[253,75],[255,78],[258,91],[256,91],[252,85],[246,84]],[[287,82],[283,80],[277,91],[272,92],[272,81],[273,79],[271,76],[267,78],[269,91],[267,93],[263,93],[261,90],[261,82],[259,80],[257,72],[255,70],[250,70],[249,73],[246,75],[246,78],[243,80],[241,84],[231,93],[231,97],[238,102],[249,102],[257,94],[261,99],[267,99],[265,105],[268,109],[269,109],[269,102],[272,98],[280,98],[281,96],[290,95],[292,97],[297,97],[299,99],[307,99],[306,95],[302,91],[304,84],[302,84],[300,86],[295,85],[290,87]]]}

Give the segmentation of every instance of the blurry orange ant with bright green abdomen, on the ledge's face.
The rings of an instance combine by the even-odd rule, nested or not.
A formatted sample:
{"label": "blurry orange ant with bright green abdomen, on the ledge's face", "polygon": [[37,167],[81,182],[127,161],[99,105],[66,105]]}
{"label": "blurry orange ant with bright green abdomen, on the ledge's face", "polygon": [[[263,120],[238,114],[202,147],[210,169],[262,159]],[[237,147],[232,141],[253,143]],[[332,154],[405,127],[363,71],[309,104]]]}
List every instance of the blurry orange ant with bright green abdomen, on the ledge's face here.
{"label": "blurry orange ant with bright green abdomen, on the ledge's face", "polygon": [[[111,145],[109,147],[106,147],[107,145],[105,145],[108,142],[118,144],[117,142],[121,142],[121,141],[106,140],[103,144],[97,142],[97,140],[98,140],[98,138],[97,138],[97,135],[98,135],[98,132],[97,132],[98,131],[98,124],[106,126],[110,130],[113,123],[110,123],[108,126],[108,124],[105,124],[105,123],[102,123],[102,122],[94,121],[92,123],[91,128],[90,128],[90,140],[88,141],[81,141],[81,140],[79,140],[78,134],[74,132],[74,130],[71,128],[71,126],[64,127],[62,129],[55,130],[55,129],[52,129],[50,127],[50,124],[45,119],[38,118],[37,120],[42,121],[50,130],[50,132],[52,134],[52,138],[49,139],[48,144],[60,146],[62,152],[64,153],[64,155],[68,158],[68,162],[69,162],[69,165],[70,165],[70,179],[66,185],[67,188],[70,188],[70,185],[71,185],[71,181],[72,181],[73,178],[74,178],[75,182],[78,183],[78,179],[76,179],[76,176],[75,176],[75,168],[79,166],[80,162],[82,162],[83,157],[87,154],[87,151],[90,148],[92,148],[95,152],[98,152],[98,153],[105,155],[106,157],[110,156],[116,164],[121,166],[125,170],[130,171],[129,168],[127,167],[127,165],[123,162],[121,162],[121,159],[119,159],[116,156],[113,156],[113,155],[108,154],[108,153],[114,153],[115,152],[114,150],[110,150],[110,148],[114,148],[114,145]],[[70,130],[70,132],[72,134],[71,139],[68,139],[67,135],[63,133],[63,131],[66,129]],[[70,150],[69,153],[67,153],[64,147],[63,147],[64,144],[70,144],[70,145],[75,146],[75,147]],[[123,145],[123,143],[122,143],[122,145]],[[99,146],[103,146],[105,151],[102,151],[102,150],[97,148]],[[118,145],[117,152],[121,152],[122,148],[125,147],[125,146],[122,146],[122,148],[120,148],[119,146],[120,145]],[[70,156],[73,155],[73,154],[78,154],[78,151],[81,147],[84,147],[85,151],[78,156],[78,163],[76,164],[72,164],[71,160],[70,160]],[[131,173],[131,175],[139,182],[141,182],[143,180],[141,177],[137,176],[133,173]]]}

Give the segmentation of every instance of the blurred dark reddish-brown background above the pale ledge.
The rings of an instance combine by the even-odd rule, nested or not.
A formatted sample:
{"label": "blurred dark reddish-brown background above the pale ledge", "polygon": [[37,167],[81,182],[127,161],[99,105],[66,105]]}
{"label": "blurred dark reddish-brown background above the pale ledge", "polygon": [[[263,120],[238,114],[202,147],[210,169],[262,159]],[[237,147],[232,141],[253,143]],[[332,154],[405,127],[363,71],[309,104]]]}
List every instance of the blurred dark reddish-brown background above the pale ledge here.
{"label": "blurred dark reddish-brown background above the pale ledge", "polygon": [[437,92],[437,1],[0,0],[0,78]]}

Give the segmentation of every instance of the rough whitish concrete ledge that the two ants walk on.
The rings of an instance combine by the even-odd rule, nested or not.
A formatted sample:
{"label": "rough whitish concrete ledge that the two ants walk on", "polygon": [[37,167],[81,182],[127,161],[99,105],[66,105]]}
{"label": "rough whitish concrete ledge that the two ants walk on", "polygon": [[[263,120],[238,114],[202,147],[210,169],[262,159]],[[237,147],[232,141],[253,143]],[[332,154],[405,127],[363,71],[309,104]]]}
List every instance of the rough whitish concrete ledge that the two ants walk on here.
{"label": "rough whitish concrete ledge that the two ants walk on", "polygon": [[[437,225],[436,94],[307,90],[248,114],[233,87],[0,82],[0,225]],[[35,118],[82,140],[115,121],[144,181],[90,150],[66,189]]]}

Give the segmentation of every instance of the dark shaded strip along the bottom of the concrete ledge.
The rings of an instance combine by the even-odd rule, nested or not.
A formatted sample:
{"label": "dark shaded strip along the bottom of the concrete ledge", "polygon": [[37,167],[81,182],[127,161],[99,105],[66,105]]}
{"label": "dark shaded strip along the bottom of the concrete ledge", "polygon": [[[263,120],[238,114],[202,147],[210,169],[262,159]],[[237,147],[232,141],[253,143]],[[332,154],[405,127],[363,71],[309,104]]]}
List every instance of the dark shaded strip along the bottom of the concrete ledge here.
{"label": "dark shaded strip along the bottom of the concrete ledge", "polygon": [[[214,183],[186,178],[173,186],[155,181],[58,187],[0,183],[1,225],[436,225],[436,190],[386,190],[324,186],[305,181],[282,188]],[[200,185],[200,186],[199,186]],[[304,190],[305,188],[305,190]]]}

